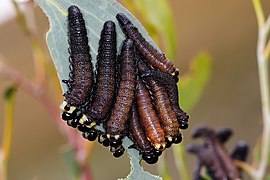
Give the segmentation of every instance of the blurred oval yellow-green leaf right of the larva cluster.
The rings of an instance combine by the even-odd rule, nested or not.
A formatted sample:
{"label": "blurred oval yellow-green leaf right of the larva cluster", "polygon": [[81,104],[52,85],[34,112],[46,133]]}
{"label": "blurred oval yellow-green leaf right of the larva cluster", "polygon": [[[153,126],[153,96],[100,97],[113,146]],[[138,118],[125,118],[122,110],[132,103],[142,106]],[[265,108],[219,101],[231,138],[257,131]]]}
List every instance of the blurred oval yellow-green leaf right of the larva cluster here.
{"label": "blurred oval yellow-green leaf right of the larva cluster", "polygon": [[189,111],[200,99],[212,72],[212,58],[199,53],[191,62],[189,72],[181,79],[178,87],[181,107]]}

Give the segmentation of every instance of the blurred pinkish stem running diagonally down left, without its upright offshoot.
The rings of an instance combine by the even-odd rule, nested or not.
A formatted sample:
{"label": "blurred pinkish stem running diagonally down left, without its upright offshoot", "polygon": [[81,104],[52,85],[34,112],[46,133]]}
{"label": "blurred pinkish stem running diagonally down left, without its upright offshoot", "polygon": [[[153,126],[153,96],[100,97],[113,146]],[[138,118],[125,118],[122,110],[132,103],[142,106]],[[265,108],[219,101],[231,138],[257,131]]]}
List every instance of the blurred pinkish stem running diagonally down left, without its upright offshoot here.
{"label": "blurred pinkish stem running diagonally down left, without its upright offshoot", "polygon": [[[2,59],[1,59],[2,58]],[[72,129],[61,120],[59,115],[59,108],[51,101],[50,97],[46,94],[40,84],[35,84],[25,78],[22,74],[18,73],[15,69],[6,65],[3,61],[3,57],[0,56],[0,77],[6,77],[10,79],[19,88],[27,92],[29,95],[35,97],[43,107],[48,111],[49,115],[57,125],[60,132],[67,137],[69,144],[71,145],[75,159],[80,167],[80,177],[91,177],[90,170],[86,168],[87,160],[91,152],[92,144],[84,140],[81,134]]]}

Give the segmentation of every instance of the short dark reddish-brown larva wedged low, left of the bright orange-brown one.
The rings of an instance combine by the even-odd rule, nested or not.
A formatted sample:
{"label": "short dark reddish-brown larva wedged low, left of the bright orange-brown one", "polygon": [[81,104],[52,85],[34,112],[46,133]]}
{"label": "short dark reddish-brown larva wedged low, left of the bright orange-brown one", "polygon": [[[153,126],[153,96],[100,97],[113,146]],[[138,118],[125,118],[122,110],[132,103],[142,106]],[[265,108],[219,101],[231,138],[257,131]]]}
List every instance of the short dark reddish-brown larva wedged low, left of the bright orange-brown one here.
{"label": "short dark reddish-brown larva wedged low, left of the bright orange-brown one", "polygon": [[150,142],[147,140],[145,132],[143,131],[139,116],[137,105],[134,103],[131,107],[130,111],[130,133],[135,143],[135,147],[142,154],[142,158],[148,164],[154,164],[158,161],[158,155],[155,153],[153,147]]}

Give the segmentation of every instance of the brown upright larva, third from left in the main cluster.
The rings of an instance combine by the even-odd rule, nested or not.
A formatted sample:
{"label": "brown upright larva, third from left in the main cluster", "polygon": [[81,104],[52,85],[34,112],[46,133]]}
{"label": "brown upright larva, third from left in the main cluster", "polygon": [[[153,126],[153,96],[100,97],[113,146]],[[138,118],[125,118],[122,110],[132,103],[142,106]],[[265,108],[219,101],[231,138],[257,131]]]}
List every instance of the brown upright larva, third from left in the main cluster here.
{"label": "brown upright larva, third from left in the main cluster", "polygon": [[106,123],[106,133],[110,145],[117,147],[122,141],[123,132],[127,126],[129,111],[134,98],[135,89],[135,48],[131,39],[123,42],[120,55],[120,83],[118,93]]}

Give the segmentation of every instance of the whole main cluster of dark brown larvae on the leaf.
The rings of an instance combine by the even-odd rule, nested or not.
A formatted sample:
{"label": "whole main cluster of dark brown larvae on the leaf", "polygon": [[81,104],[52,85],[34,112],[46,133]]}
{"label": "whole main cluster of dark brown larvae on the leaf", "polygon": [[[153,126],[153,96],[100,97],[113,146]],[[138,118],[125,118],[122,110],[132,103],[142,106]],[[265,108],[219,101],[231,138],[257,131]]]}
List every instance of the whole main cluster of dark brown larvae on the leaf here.
{"label": "whole main cluster of dark brown larvae on the leaf", "polygon": [[[61,104],[62,119],[84,138],[124,153],[128,136],[143,160],[156,163],[162,151],[182,141],[189,116],[179,107],[178,70],[154,49],[124,14],[117,14],[126,39],[117,54],[113,21],[104,23],[93,72],[85,22],[76,6],[68,9],[70,74]],[[95,128],[104,127],[105,132]]]}

